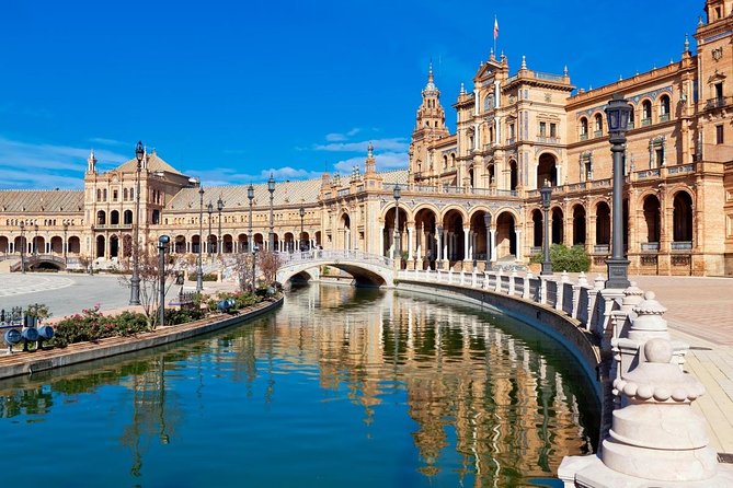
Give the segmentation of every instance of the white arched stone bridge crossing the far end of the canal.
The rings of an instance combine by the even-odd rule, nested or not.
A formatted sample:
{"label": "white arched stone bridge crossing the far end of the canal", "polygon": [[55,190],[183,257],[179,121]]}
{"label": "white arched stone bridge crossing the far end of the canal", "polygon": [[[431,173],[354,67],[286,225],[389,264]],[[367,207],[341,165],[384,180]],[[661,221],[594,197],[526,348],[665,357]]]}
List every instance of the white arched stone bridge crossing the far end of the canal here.
{"label": "white arched stone bridge crossing the far end of the canal", "polygon": [[277,281],[287,283],[295,277],[318,279],[320,267],[330,266],[354,277],[356,286],[393,287],[394,262],[389,257],[360,251],[313,249],[302,253],[282,253]]}

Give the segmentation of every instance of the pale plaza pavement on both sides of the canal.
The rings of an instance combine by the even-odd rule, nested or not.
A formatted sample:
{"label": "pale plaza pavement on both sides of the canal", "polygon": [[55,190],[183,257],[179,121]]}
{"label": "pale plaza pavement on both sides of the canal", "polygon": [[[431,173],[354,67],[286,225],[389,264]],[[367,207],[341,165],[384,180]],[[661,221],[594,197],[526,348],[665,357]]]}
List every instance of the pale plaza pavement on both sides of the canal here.
{"label": "pale plaza pavement on both sides of the canal", "polygon": [[[711,445],[733,454],[733,278],[633,276],[639,288],[656,293],[675,339],[690,345],[684,365],[707,394],[694,404],[708,421]],[[45,303],[54,319],[100,304],[106,313],[134,309],[129,289],[115,276],[0,274],[0,309]],[[193,290],[186,283],[186,291]],[[204,282],[205,293],[232,290],[232,283]]]}

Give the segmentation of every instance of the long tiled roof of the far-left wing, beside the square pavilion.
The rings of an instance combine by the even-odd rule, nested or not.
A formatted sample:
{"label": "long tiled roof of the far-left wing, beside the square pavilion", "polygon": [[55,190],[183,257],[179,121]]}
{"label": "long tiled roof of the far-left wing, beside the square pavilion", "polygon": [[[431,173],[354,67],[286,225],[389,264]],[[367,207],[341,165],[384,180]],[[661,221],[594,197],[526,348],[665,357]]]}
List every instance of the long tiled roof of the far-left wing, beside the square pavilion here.
{"label": "long tiled roof of the far-left wing, beside the square pavilion", "polygon": [[0,211],[3,212],[79,212],[84,207],[80,189],[0,190]]}

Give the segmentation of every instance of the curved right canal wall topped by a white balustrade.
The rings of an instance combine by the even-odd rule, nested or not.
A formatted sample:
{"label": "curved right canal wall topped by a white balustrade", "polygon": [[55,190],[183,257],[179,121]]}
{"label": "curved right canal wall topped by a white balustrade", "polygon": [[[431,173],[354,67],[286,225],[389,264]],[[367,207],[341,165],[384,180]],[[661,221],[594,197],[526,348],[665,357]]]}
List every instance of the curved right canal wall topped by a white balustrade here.
{"label": "curved right canal wall topped by a white balustrade", "polygon": [[[594,386],[602,410],[610,410],[603,371],[610,358],[602,353],[604,305],[599,290],[581,282],[551,281],[516,274],[436,274],[402,271],[398,290],[459,300],[519,319],[562,344]],[[606,363],[606,368],[604,368]],[[603,416],[603,414],[602,414]]]}

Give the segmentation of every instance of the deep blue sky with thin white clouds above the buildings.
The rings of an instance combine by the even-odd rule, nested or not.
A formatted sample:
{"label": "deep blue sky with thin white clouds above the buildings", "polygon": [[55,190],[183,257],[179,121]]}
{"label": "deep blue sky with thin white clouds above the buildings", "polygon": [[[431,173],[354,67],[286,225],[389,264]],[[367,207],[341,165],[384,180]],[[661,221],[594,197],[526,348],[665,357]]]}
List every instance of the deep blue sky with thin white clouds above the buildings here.
{"label": "deep blue sky with thin white clouds above the buildings", "polygon": [[80,188],[138,139],[207,186],[350,173],[369,141],[405,167],[430,60],[453,131],[494,15],[512,72],[587,89],[678,60],[703,3],[2,0],[0,188]]}

